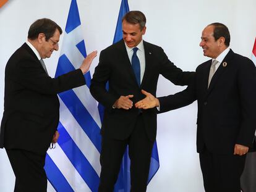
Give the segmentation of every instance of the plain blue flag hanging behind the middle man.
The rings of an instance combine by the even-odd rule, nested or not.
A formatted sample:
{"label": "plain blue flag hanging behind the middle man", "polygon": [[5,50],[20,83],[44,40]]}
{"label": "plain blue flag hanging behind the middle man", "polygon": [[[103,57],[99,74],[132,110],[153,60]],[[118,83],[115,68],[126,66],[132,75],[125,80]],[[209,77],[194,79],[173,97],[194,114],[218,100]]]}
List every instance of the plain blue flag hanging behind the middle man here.
{"label": "plain blue flag hanging behind the middle man", "polygon": [[[122,39],[122,17],[129,12],[129,4],[127,0],[121,1],[121,6],[119,10],[119,15],[117,19],[116,24],[116,31],[114,33],[114,40],[113,44],[117,43],[117,41],[120,41]],[[108,89],[108,84],[106,85],[106,88]],[[104,113],[104,107],[99,104],[98,106],[101,120],[103,119],[103,113]],[[128,147],[126,149],[126,152],[124,153],[124,157],[122,159],[121,169],[119,171],[119,176],[117,178],[117,182],[114,188],[115,192],[124,191],[129,192],[130,191],[130,159],[128,155]],[[151,155],[151,163],[150,163],[150,172],[148,175],[148,183],[150,182],[151,178],[155,175],[157,170],[159,169],[159,158],[158,158],[158,150],[156,142],[154,143],[152,155]]]}

